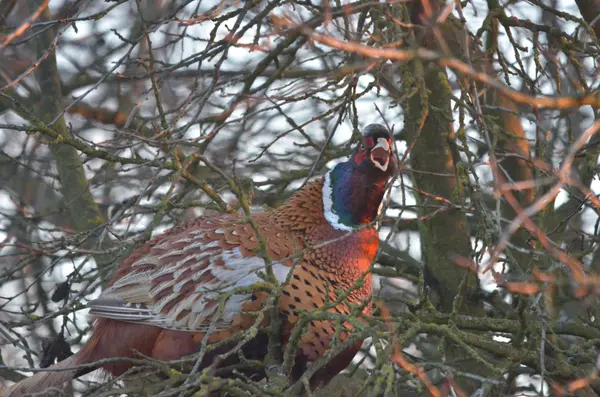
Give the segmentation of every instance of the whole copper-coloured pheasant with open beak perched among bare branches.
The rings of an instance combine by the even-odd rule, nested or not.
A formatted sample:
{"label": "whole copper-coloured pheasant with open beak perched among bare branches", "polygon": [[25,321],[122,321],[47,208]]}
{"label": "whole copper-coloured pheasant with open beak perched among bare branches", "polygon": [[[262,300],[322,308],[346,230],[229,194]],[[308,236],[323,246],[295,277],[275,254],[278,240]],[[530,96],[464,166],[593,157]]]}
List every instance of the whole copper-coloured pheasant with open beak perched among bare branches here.
{"label": "whole copper-coloured pheasant with open beak perched among bare branches", "polygon": [[[51,372],[21,381],[10,396],[61,387],[96,368],[118,376],[132,368],[127,358],[180,359],[198,352],[204,338],[212,344],[249,329],[261,310],[265,316],[259,325],[264,330],[269,293],[244,287],[264,281],[257,272],[266,266],[282,284],[282,349],[301,321],[301,311],[325,307],[331,313],[350,314],[358,308],[370,315],[368,269],[378,248],[375,221],[396,167],[388,130],[371,124],[350,159],[308,183],[279,208],[252,215],[267,255],[259,254],[259,237],[240,214],[199,218],[148,241],[121,263],[108,287],[89,303],[95,323],[81,350]],[[297,344],[293,377],[325,354],[334,335],[338,341],[348,338],[352,326],[346,322],[336,332],[336,324],[320,319],[307,324]],[[246,344],[246,358],[263,359],[267,340],[259,333]],[[313,380],[327,383],[350,363],[361,343],[335,356]],[[210,365],[214,357],[207,354],[201,366]],[[103,362],[95,367],[73,368],[99,360]]]}

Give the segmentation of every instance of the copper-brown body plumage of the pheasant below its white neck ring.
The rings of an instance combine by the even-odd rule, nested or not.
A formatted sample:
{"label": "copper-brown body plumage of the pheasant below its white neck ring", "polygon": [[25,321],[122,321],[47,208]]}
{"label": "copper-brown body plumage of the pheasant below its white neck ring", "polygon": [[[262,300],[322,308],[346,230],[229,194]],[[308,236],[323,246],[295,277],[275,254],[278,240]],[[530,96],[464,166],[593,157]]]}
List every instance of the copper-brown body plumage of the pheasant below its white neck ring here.
{"label": "copper-brown body plumage of the pheasant below its white neck ring", "polygon": [[[292,272],[280,297],[284,344],[300,319],[298,311],[311,312],[326,301],[335,302],[335,291],[348,290],[369,267],[377,250],[374,229],[348,233],[327,223],[323,217],[322,186],[322,179],[313,182],[278,210],[253,216],[267,241],[268,255],[275,263],[274,268],[277,267],[274,270],[279,281],[285,282],[284,273]],[[121,264],[109,288],[91,302],[91,314],[98,318],[90,341],[75,356],[77,363],[108,357],[139,357],[137,353],[175,360],[194,353],[213,316],[218,315],[219,306],[216,300],[202,302],[203,295],[212,291],[197,292],[198,286],[214,288],[216,298],[219,289],[239,285],[240,279],[246,284],[244,277],[247,282],[260,281],[253,273],[258,269],[256,265],[264,267],[258,248],[252,227],[238,215],[199,219],[149,241]],[[302,254],[296,258],[298,253]],[[238,268],[231,265],[232,258],[240,261]],[[255,259],[251,268],[245,270],[241,262],[248,258]],[[350,305],[367,300],[370,293],[371,280],[367,274],[360,289],[350,292],[344,302],[329,310],[347,314]],[[226,307],[222,316],[225,318],[217,319],[209,341],[224,339],[250,327],[254,317],[245,313],[261,310],[267,296],[266,293],[240,296],[231,308]],[[366,304],[364,311],[369,314],[370,305]],[[202,331],[190,332],[194,328]],[[300,342],[298,354],[304,357],[299,362],[322,356],[334,333],[334,322],[311,321]],[[337,363],[338,371],[348,365],[358,347],[346,352],[349,358]],[[120,375],[131,366],[130,362],[117,361],[104,364],[103,368]],[[40,391],[45,384],[42,386],[20,391]],[[12,395],[19,393],[14,391]]]}

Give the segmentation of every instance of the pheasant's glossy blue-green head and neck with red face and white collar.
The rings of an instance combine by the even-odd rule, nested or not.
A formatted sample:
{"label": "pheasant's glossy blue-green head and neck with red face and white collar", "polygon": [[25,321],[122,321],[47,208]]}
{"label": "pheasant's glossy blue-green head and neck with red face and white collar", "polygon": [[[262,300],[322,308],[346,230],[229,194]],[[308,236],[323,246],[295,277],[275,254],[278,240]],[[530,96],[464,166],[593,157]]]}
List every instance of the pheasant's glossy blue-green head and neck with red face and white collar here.
{"label": "pheasant's glossy blue-green head and neck with red face and white collar", "polygon": [[392,136],[380,124],[368,125],[350,159],[337,164],[325,176],[325,219],[340,230],[353,230],[373,222],[381,209],[387,182],[395,171]]}

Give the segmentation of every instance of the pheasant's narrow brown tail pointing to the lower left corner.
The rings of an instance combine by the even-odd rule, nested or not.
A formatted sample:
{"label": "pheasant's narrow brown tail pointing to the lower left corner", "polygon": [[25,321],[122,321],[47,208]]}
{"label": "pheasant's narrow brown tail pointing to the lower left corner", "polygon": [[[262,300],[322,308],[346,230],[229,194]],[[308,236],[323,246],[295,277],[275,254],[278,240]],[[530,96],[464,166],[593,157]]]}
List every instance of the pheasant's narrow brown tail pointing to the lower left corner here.
{"label": "pheasant's narrow brown tail pointing to the lower left corner", "polygon": [[[79,355],[74,355],[66,360],[51,366],[49,372],[38,372],[27,379],[23,379],[10,388],[8,394],[2,397],[22,396],[49,396],[59,395],[63,385],[75,378],[80,370],[70,369],[79,364]],[[69,368],[69,369],[67,369]]]}

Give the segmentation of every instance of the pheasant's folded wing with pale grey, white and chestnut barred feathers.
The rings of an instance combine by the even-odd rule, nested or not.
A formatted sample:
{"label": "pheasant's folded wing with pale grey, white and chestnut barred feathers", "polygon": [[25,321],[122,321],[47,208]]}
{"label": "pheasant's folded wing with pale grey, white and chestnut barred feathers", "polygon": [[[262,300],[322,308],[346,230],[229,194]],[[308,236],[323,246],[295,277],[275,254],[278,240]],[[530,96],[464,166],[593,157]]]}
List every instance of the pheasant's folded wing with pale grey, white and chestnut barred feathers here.
{"label": "pheasant's folded wing with pale grey, white and chestnut barred feathers", "polygon": [[[254,220],[268,240],[273,272],[284,282],[293,264],[289,258],[301,241],[294,241],[268,213]],[[222,313],[219,296],[262,281],[256,272],[265,270],[265,260],[256,253],[258,248],[254,230],[239,216],[198,220],[130,257],[119,269],[124,275],[90,302],[91,314],[179,331],[229,329],[241,321],[245,306],[252,306],[256,296],[234,294]]]}

